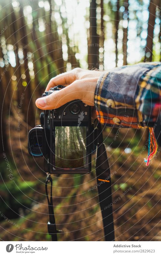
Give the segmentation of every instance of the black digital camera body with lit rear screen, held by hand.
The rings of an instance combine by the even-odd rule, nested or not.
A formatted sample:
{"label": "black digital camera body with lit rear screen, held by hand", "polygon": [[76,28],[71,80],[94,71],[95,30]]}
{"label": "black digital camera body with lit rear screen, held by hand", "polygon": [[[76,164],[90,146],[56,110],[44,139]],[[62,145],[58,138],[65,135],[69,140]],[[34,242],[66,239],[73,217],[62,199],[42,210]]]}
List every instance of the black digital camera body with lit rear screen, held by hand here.
{"label": "black digital camera body with lit rear screen, held by hand", "polygon": [[[43,97],[64,86],[58,85]],[[28,151],[33,157],[44,158],[44,171],[49,173],[89,173],[93,129],[91,107],[81,100],[40,114],[40,124],[28,134]]]}

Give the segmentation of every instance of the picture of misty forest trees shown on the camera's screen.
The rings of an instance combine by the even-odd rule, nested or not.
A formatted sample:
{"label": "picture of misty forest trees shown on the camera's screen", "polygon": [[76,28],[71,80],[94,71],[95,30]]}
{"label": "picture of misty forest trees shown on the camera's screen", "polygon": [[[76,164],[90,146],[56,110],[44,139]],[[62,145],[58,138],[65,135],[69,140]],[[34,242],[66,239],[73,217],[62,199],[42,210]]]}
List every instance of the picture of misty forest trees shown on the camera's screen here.
{"label": "picture of misty forest trees shown on the camera's screen", "polygon": [[55,167],[87,168],[86,127],[55,127]]}

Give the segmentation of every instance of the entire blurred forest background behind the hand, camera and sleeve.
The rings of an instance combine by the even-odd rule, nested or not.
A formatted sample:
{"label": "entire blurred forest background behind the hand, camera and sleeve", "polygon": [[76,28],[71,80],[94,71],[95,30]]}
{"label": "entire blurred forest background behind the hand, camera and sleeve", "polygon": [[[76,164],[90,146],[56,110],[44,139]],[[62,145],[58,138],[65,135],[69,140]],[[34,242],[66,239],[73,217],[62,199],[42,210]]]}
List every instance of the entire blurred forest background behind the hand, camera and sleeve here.
{"label": "entire blurred forest background behind the hand, camera and sleeve", "polygon": [[[160,61],[160,15],[159,0],[0,0],[2,241],[51,240],[43,159],[27,150],[28,131],[39,124],[36,98],[52,77],[76,67]],[[116,241],[161,240],[160,154],[145,166],[147,129],[103,133],[115,172]],[[103,241],[94,160],[95,152],[90,175],[53,177],[59,240]]]}

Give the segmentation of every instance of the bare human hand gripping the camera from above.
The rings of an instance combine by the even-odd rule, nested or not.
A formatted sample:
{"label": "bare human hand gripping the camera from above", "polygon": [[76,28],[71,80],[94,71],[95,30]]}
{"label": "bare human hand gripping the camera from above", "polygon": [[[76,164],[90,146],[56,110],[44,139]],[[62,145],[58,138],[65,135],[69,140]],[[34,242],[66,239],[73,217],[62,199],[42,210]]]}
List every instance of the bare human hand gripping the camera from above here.
{"label": "bare human hand gripping the camera from above", "polygon": [[82,68],[74,68],[69,72],[59,74],[49,81],[46,91],[57,85],[66,87],[49,96],[37,99],[36,106],[39,109],[55,109],[71,100],[82,100],[85,104],[94,106],[94,93],[101,74],[101,71]]}

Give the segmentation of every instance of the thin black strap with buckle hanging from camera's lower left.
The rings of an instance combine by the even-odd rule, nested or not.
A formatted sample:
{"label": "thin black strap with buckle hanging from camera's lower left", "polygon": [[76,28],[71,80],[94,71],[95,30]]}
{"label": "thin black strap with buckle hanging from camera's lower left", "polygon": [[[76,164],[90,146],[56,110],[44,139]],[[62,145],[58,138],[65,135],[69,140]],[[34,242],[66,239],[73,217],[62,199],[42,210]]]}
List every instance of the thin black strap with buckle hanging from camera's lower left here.
{"label": "thin black strap with buckle hanging from camera's lower left", "polygon": [[[49,182],[51,183],[50,201],[49,201],[48,188],[47,188],[47,185],[49,184]],[[59,231],[56,229],[54,207],[52,202],[52,177],[50,176],[49,173],[47,173],[47,178],[45,182],[45,191],[46,191],[46,197],[47,197],[48,207],[49,207],[48,232],[49,232],[49,235],[52,236],[52,241],[57,241],[57,233],[61,232],[61,230]]]}

